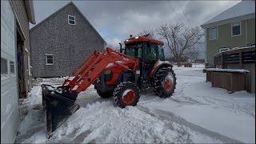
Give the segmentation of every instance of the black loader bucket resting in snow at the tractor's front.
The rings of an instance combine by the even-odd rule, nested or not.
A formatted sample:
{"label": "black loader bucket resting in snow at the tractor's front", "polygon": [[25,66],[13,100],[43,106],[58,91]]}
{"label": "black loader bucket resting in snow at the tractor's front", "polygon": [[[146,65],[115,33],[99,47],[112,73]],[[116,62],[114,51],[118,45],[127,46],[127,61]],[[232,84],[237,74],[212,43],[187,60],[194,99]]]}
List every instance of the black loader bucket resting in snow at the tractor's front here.
{"label": "black loader bucket resting in snow at the tractor's front", "polygon": [[69,93],[67,86],[61,86],[61,91],[54,86],[42,84],[42,106],[46,110],[47,138],[50,138],[59,126],[79,109],[75,103],[78,96],[76,91]]}

